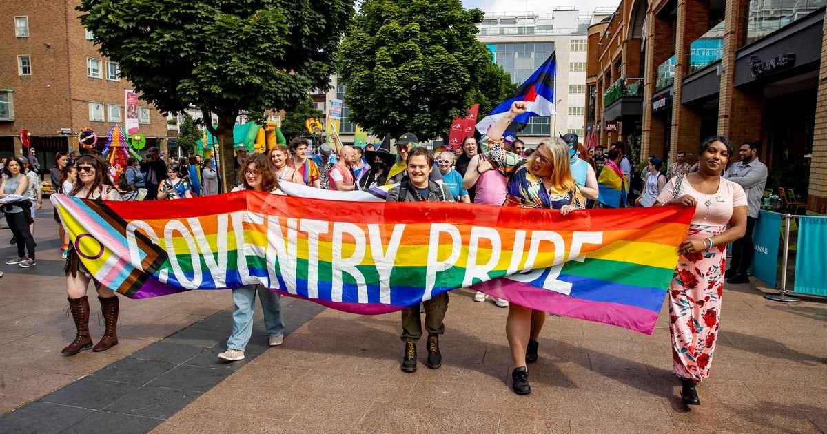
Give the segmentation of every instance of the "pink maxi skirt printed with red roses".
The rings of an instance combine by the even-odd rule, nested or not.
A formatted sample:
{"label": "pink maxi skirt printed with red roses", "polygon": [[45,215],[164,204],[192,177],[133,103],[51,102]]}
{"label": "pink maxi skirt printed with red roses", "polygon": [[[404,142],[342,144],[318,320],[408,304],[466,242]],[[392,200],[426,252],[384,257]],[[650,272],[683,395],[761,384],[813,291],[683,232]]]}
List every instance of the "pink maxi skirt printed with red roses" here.
{"label": "pink maxi skirt printed with red roses", "polygon": [[[705,240],[725,229],[692,224],[686,239]],[[725,260],[726,246],[678,258],[669,284],[669,331],[672,372],[681,379],[700,382],[710,376],[724,293]]]}

